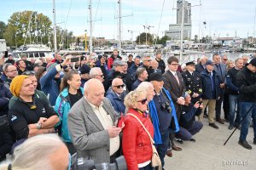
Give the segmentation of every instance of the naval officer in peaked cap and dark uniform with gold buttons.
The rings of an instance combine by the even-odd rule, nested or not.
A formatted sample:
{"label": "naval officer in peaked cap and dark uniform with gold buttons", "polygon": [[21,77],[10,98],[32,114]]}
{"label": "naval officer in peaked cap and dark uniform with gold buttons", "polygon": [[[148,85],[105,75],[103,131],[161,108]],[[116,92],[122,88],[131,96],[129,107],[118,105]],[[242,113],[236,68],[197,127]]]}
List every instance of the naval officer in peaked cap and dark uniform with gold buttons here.
{"label": "naval officer in peaked cap and dark uniform with gold buttons", "polygon": [[201,99],[202,88],[200,81],[200,74],[195,71],[195,62],[189,61],[186,63],[187,71],[182,73],[183,81],[186,87],[186,92],[191,96],[191,102],[195,102]]}

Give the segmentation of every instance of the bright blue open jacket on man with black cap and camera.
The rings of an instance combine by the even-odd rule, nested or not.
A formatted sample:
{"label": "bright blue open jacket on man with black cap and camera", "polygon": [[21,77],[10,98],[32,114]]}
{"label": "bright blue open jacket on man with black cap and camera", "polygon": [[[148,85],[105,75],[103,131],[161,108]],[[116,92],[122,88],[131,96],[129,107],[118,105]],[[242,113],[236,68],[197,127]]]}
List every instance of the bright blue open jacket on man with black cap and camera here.
{"label": "bright blue open jacket on man with black cap and camera", "polygon": [[[178,132],[179,125],[177,122],[176,110],[172,102],[171,94],[165,88],[163,88],[163,91],[165,92],[167,98],[171,101],[170,104],[172,107],[172,123],[173,123],[172,130],[174,132]],[[159,119],[158,119],[158,115],[157,115],[157,111],[156,111],[156,107],[154,105],[153,99],[148,103],[148,108],[149,108],[149,114],[154,126],[154,144],[162,144],[162,138],[161,138],[160,129],[159,129]]]}

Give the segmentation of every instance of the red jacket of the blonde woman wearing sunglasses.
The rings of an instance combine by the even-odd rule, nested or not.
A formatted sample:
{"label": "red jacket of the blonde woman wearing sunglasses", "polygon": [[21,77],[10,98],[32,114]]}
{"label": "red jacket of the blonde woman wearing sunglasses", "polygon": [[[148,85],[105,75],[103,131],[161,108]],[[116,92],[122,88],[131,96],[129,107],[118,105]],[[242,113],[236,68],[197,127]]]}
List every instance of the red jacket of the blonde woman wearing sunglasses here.
{"label": "red jacket of the blonde woman wearing sunglasses", "polygon": [[[137,116],[147,128],[151,137],[154,136],[154,127],[149,116],[145,117],[134,109],[130,109],[127,113]],[[125,116],[124,122],[122,144],[125,161],[129,170],[137,170],[137,164],[151,160],[152,145],[148,133],[135,117]]]}

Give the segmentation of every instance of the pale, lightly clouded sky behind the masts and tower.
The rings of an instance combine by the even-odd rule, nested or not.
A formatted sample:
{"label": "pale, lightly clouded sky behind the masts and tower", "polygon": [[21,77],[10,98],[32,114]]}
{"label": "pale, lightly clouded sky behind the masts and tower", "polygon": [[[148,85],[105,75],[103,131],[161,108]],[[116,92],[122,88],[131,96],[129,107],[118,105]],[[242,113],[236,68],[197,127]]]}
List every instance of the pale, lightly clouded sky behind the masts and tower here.
{"label": "pale, lightly clouded sky behind the masts and tower", "polygon": [[[176,23],[176,2],[173,0],[121,0],[122,39],[133,39],[143,32],[143,25],[154,26],[150,33],[164,35],[169,24]],[[165,2],[165,3],[164,3]],[[192,37],[195,35],[216,37],[256,37],[255,0],[190,0],[192,6]],[[161,9],[164,3],[162,17]],[[74,35],[89,31],[89,0],[55,0],[56,22]],[[0,20],[7,24],[11,14],[33,10],[53,20],[52,0],[4,0],[1,1]],[[70,10],[69,10],[70,9]],[[69,14],[68,14],[69,12]],[[93,37],[118,37],[118,0],[92,0]],[[160,20],[161,19],[161,20]],[[67,22],[66,22],[67,21]],[[207,25],[204,26],[203,22]]]}

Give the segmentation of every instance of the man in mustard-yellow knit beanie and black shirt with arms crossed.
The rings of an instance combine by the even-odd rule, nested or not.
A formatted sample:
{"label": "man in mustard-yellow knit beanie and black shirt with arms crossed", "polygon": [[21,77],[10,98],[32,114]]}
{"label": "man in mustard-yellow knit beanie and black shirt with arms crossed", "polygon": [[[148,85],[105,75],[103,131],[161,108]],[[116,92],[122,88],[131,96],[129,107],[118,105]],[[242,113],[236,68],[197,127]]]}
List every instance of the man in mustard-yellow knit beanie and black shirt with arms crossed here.
{"label": "man in mustard-yellow knit beanie and black shirt with arms crossed", "polygon": [[18,97],[8,113],[9,124],[17,140],[55,132],[55,124],[60,120],[48,103],[34,97],[35,88],[29,77],[15,77],[10,84],[10,91]]}

